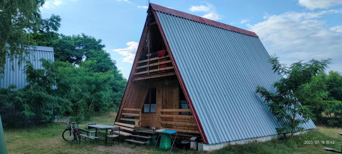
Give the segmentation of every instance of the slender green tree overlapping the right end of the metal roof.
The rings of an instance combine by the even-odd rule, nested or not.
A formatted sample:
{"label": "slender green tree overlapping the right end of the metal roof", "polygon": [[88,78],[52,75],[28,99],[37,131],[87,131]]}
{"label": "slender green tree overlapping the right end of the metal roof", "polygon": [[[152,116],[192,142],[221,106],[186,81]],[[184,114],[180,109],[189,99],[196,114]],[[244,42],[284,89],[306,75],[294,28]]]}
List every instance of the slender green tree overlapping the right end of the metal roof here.
{"label": "slender green tree overlapping the right end of the metal roof", "polygon": [[282,76],[273,84],[276,92],[269,91],[262,86],[258,86],[255,92],[265,98],[271,112],[282,123],[281,128],[276,128],[277,131],[279,133],[289,132],[292,139],[295,132],[303,130],[300,124],[306,123],[312,117],[311,110],[300,103],[298,89],[303,84],[311,82],[314,76],[324,73],[328,65],[331,64],[331,59],[298,61],[287,67],[285,64],[281,64],[278,58],[275,55],[269,58],[274,72]]}

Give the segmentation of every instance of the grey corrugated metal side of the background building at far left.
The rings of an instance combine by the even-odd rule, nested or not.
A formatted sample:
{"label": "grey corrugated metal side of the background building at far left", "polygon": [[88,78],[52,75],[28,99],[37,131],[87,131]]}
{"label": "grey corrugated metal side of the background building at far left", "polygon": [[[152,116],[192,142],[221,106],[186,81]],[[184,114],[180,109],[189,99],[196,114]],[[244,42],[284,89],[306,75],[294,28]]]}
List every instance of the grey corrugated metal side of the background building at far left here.
{"label": "grey corrugated metal side of the background building at far left", "polygon": [[[30,60],[33,66],[37,69],[41,69],[40,58],[44,59],[52,59],[53,57],[53,48],[45,47],[45,46],[37,46],[34,51],[33,48],[28,49],[32,54],[30,55]],[[35,58],[34,58],[35,57]],[[26,64],[22,64],[19,68],[17,59],[14,59],[14,71],[11,67],[11,61],[9,58],[6,59],[4,74],[0,74],[0,87],[7,88],[11,84],[15,84],[17,89],[24,88],[26,83],[26,75],[23,72],[23,69]]]}

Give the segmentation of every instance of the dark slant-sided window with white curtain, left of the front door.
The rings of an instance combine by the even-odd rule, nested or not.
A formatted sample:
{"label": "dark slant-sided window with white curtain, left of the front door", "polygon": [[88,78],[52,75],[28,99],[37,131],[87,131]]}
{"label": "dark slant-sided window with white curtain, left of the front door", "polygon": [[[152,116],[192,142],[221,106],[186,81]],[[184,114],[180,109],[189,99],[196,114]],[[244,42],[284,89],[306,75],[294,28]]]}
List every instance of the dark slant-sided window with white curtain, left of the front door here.
{"label": "dark slant-sided window with white curtain, left of the front door", "polygon": [[147,90],[147,94],[143,106],[144,113],[156,113],[157,108],[157,88],[150,87]]}

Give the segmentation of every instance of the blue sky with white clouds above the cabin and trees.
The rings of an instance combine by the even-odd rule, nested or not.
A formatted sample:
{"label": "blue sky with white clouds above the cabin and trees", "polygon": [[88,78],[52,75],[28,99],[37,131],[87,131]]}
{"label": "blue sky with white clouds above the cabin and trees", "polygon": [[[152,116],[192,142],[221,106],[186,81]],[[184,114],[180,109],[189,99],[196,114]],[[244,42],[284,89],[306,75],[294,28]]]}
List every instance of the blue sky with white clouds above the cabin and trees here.
{"label": "blue sky with white clouds above the cabin and trees", "polygon": [[[332,58],[342,72],[342,0],[150,0],[257,33],[268,53],[287,65]],[[146,19],[146,0],[47,0],[43,18],[60,15],[60,33],[102,39],[128,79]]]}

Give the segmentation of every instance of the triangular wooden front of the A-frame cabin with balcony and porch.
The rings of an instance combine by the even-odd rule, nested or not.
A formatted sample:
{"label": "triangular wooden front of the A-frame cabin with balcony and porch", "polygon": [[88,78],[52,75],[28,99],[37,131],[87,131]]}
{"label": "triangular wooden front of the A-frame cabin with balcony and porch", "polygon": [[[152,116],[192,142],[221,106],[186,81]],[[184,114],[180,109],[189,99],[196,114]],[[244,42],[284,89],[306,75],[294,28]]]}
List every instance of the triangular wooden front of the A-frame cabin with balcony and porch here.
{"label": "triangular wooden front of the A-frame cabin with balcony and porch", "polygon": [[200,134],[171,56],[149,10],[115,122]]}

